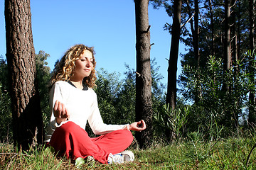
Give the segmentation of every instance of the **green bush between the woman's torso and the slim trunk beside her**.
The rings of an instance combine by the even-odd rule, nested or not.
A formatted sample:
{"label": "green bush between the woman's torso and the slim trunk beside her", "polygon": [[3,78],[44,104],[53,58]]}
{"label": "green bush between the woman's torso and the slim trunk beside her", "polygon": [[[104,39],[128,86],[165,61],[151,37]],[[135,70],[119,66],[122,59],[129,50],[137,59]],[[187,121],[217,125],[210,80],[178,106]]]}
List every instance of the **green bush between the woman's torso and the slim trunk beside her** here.
{"label": "green bush between the woman's torso and the slim trunk beside her", "polygon": [[126,67],[124,79],[116,72],[97,71],[95,92],[102,119],[107,124],[122,125],[135,120],[135,72]]}

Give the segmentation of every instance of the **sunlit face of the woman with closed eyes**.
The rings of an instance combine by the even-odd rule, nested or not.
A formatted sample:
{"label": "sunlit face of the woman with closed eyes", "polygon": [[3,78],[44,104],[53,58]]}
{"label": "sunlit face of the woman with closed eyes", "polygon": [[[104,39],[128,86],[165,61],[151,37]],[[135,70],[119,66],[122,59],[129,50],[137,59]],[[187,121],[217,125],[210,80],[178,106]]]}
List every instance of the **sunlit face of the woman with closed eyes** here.
{"label": "sunlit face of the woman with closed eyes", "polygon": [[85,50],[79,59],[75,61],[74,77],[83,79],[90,75],[93,69],[92,52]]}

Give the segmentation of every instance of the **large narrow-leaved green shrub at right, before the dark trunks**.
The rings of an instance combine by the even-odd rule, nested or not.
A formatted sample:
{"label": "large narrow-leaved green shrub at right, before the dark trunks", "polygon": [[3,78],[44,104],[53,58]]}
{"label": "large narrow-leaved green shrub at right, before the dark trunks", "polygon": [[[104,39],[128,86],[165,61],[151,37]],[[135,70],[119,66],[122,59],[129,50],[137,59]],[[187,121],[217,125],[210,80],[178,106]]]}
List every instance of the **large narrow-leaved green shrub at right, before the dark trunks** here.
{"label": "large narrow-leaved green shrub at right, before the dark trunks", "polygon": [[[199,128],[204,132],[211,132],[211,135],[220,135],[219,132],[223,129],[223,135],[230,135],[232,130],[238,128],[238,121],[244,114],[242,109],[247,107],[248,89],[255,84],[248,81],[245,60],[240,60],[228,72],[223,71],[222,63],[221,59],[210,56],[205,69],[189,65],[183,68],[180,79],[183,79],[181,92],[184,98],[191,101],[199,98],[191,108],[187,125],[191,132]],[[235,68],[240,68],[239,72],[235,72]],[[223,82],[230,84],[230,91],[223,91]]]}

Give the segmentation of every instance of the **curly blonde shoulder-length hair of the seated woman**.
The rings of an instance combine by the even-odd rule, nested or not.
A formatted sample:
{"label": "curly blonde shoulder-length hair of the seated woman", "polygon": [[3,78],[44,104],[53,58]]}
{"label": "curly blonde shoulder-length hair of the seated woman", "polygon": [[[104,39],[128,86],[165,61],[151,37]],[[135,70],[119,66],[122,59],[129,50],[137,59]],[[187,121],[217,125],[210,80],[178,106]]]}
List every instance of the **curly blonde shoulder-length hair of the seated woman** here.
{"label": "curly blonde shoulder-length hair of the seated woman", "polygon": [[70,77],[74,74],[75,69],[75,61],[79,60],[80,56],[82,55],[85,50],[89,50],[92,52],[92,71],[88,77],[85,77],[82,80],[82,83],[85,86],[88,86],[90,88],[93,88],[96,86],[96,71],[95,71],[95,51],[93,50],[93,47],[87,47],[85,45],[79,44],[74,45],[73,47],[70,47],[70,49],[65,52],[65,55],[60,59],[60,61],[55,64],[55,68],[53,69],[53,77],[51,78],[50,84],[53,86],[56,81],[62,80],[62,81],[69,81]]}

